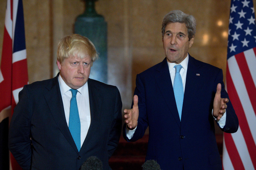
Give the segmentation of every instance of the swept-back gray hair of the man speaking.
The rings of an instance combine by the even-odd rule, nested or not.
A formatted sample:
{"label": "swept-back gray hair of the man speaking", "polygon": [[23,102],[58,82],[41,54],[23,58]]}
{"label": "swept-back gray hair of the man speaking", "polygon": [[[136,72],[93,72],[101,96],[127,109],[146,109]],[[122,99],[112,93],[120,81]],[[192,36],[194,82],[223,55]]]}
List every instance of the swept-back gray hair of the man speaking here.
{"label": "swept-back gray hair of the man speaking", "polygon": [[163,23],[162,23],[162,36],[164,36],[165,27],[169,23],[185,23],[188,29],[188,38],[189,41],[196,33],[196,19],[192,15],[185,14],[180,10],[173,10],[167,13],[164,16]]}

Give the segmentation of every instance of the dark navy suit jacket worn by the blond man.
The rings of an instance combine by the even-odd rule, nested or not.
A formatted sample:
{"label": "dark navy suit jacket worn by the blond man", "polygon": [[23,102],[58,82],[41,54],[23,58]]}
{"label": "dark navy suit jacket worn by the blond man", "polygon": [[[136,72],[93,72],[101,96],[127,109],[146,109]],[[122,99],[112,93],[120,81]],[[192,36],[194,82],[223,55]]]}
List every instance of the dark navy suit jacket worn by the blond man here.
{"label": "dark navy suit jacket worn by the blond man", "polygon": [[122,129],[120,93],[90,78],[88,89],[91,124],[78,152],[66,122],[58,75],[24,86],[9,128],[9,149],[23,169],[78,170],[90,156],[110,169],[108,159]]}

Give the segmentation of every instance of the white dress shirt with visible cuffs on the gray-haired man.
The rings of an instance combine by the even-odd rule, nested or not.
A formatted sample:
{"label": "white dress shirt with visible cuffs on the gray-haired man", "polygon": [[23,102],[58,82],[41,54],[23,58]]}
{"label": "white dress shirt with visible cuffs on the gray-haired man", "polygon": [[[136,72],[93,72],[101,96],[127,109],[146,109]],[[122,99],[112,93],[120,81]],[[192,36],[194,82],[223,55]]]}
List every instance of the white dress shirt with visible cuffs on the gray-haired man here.
{"label": "white dress shirt with visible cuffs on the gray-haired man", "polygon": [[[182,78],[182,83],[183,83],[183,92],[185,92],[185,85],[186,85],[186,77],[187,77],[187,70],[188,70],[188,55],[187,57],[180,63],[180,65],[182,66],[180,74],[181,74],[181,78]],[[172,83],[172,87],[173,87],[173,81],[174,81],[174,77],[175,77],[175,65],[179,65],[179,64],[175,64],[175,63],[170,63],[167,62],[168,67],[169,67],[169,72],[170,72],[170,76],[171,76],[171,83]],[[217,88],[217,87],[216,87]],[[220,127],[223,128],[226,124],[226,112],[223,114],[223,116],[220,118],[220,120],[217,120],[215,117],[214,119],[219,123]],[[199,125],[200,122],[197,122],[197,124]],[[129,130],[128,128],[126,128],[126,136],[131,139],[135,130],[137,127],[135,127],[135,129],[133,130]]]}

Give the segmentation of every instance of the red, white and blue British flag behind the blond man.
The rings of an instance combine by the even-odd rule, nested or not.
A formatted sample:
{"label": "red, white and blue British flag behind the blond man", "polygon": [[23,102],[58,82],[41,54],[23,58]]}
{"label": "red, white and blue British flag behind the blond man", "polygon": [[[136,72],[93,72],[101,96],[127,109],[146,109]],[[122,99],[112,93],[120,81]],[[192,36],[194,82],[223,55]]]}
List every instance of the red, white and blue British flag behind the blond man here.
{"label": "red, white and blue British flag behind the blond man", "polygon": [[[18,94],[28,83],[22,0],[7,0],[0,67],[0,169],[20,167],[8,151],[8,124]],[[9,166],[9,159],[11,164]]]}

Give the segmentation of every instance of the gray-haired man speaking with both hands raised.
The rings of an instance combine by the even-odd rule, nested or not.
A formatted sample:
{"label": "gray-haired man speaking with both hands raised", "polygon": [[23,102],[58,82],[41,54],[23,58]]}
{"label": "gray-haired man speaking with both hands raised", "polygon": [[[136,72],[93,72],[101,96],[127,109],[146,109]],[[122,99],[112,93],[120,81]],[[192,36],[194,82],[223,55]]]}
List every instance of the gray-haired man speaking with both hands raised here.
{"label": "gray-haired man speaking with both hands raised", "polygon": [[180,10],[164,16],[165,58],[137,75],[132,109],[124,110],[124,138],[136,141],[149,127],[146,160],[164,170],[221,170],[214,121],[224,132],[238,129],[222,70],[188,54],[195,27]]}

